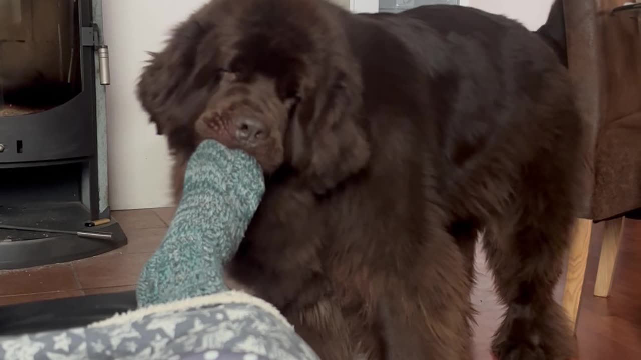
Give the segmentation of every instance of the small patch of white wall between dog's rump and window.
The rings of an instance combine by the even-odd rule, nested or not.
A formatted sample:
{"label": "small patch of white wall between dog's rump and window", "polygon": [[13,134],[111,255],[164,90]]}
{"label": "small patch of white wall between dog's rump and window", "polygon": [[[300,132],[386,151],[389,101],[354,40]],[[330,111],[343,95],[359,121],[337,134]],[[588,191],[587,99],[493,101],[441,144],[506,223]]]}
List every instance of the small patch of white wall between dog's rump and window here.
{"label": "small patch of white wall between dog's rump and window", "polygon": [[537,30],[545,24],[554,0],[468,0],[469,6],[519,20]]}

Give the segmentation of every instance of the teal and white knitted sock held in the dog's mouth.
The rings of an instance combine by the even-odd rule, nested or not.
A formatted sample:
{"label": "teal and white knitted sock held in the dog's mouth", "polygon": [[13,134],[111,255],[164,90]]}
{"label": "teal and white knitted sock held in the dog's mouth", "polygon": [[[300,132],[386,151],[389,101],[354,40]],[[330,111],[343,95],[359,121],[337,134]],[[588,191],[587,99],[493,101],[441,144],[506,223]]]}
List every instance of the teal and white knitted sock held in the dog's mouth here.
{"label": "teal and white knitted sock held in the dog's mouth", "polygon": [[237,251],[264,192],[251,156],[201,143],[188,162],[174,220],[138,279],[138,307],[228,290],[222,265]]}

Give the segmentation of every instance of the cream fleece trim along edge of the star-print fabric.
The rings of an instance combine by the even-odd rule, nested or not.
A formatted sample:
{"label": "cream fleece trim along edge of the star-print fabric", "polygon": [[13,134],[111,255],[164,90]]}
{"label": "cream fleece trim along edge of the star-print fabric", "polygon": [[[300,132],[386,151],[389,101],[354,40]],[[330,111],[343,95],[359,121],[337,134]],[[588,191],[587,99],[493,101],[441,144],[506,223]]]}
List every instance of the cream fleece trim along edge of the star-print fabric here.
{"label": "cream fleece trim along edge of the star-print fabric", "polygon": [[179,300],[169,302],[168,304],[153,305],[144,307],[142,309],[128,311],[127,313],[117,314],[106,320],[92,323],[88,326],[88,329],[132,323],[144,318],[145,316],[154,314],[178,313],[180,311],[201,309],[206,306],[215,306],[222,304],[245,304],[249,306],[259,307],[263,311],[274,315],[274,317],[281,320],[281,322],[283,322],[288,327],[293,327],[292,324],[287,321],[285,316],[281,315],[278,309],[276,309],[276,307],[274,307],[272,304],[269,304],[269,302],[258,299],[257,297],[253,297],[242,291],[225,291],[223,293],[217,293],[214,295],[206,295],[203,297]]}

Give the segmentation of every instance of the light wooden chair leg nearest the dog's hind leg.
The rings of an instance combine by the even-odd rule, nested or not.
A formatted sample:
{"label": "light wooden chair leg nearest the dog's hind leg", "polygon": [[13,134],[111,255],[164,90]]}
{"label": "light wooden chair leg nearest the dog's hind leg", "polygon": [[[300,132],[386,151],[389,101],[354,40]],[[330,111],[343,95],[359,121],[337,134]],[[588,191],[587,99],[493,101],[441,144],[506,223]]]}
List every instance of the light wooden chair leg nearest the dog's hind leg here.
{"label": "light wooden chair leg nearest the dog's hind leg", "polygon": [[592,236],[592,220],[577,219],[570,240],[570,252],[563,289],[563,309],[570,319],[570,326],[576,330],[576,320],[579,316],[579,304],[585,279],[585,267],[588,263],[590,237]]}

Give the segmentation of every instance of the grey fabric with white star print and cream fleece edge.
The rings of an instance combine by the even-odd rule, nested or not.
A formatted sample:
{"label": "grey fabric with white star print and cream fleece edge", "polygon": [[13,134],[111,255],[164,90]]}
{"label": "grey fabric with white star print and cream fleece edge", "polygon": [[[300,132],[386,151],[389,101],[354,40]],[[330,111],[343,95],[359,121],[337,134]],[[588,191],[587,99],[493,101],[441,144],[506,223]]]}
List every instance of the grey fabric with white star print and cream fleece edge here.
{"label": "grey fabric with white star print and cream fleece edge", "polygon": [[142,309],[85,328],[0,338],[0,359],[318,359],[282,316],[244,298],[249,295],[187,310]]}

